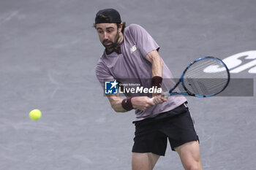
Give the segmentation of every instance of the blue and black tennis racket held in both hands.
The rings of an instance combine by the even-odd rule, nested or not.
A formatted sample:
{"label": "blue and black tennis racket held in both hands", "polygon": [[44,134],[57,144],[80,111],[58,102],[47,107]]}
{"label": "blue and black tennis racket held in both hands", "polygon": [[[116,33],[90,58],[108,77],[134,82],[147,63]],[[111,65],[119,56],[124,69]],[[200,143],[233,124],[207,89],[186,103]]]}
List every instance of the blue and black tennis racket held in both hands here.
{"label": "blue and black tennis racket held in both hands", "polygon": [[[219,58],[203,57],[190,63],[176,85],[165,92],[171,95],[189,95],[199,98],[215,96],[221,93],[230,82],[230,72]],[[184,92],[175,91],[181,83]],[[153,101],[154,98],[151,98]]]}

